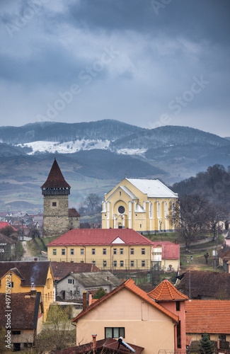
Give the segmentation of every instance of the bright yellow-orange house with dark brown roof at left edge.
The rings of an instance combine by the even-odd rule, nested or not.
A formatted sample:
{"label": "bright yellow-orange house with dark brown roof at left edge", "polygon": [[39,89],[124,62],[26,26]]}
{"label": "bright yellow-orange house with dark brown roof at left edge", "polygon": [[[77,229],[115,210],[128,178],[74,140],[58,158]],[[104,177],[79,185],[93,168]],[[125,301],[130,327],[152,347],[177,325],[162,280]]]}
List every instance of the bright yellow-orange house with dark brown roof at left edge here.
{"label": "bright yellow-orange house with dark brown roof at left edge", "polygon": [[0,292],[8,295],[30,290],[40,292],[44,308],[43,321],[46,320],[50,304],[55,299],[53,282],[50,262],[0,262]]}

